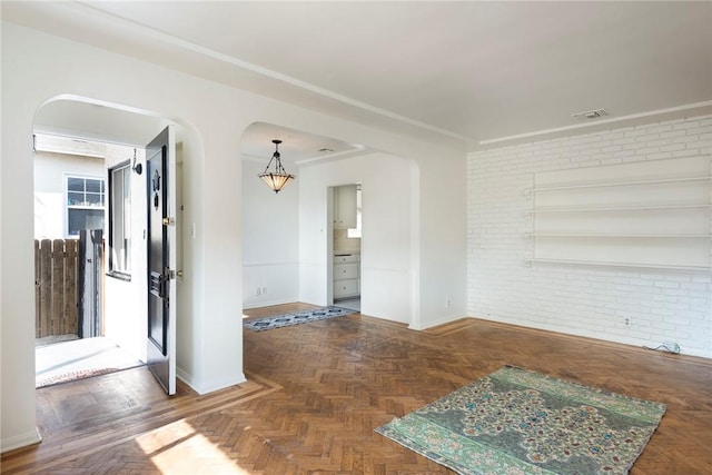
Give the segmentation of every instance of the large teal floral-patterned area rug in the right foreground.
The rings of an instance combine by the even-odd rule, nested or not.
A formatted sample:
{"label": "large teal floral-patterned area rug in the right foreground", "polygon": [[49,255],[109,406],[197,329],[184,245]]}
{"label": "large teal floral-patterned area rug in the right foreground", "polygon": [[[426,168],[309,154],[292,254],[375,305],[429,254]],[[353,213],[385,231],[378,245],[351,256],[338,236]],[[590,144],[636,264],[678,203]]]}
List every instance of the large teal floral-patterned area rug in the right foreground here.
{"label": "large teal floral-patterned area rug in the right foreground", "polygon": [[376,432],[461,474],[626,474],[664,413],[505,366]]}

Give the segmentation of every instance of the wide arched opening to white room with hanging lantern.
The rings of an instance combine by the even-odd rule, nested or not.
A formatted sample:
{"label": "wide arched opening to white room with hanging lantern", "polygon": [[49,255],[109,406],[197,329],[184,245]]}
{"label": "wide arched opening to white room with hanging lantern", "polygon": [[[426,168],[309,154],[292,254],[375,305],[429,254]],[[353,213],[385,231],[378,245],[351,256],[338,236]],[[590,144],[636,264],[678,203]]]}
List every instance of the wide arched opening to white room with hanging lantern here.
{"label": "wide arched opening to white room with hanging lantern", "polygon": [[[277,195],[257,178],[274,150],[273,139],[283,140],[279,150],[285,167],[297,175]],[[334,239],[340,235],[334,232],[329,219],[329,189],[360,184],[365,212],[370,210],[364,218],[365,247],[357,270],[364,290],[362,311],[414,324],[415,162],[343,140],[255,122],[243,135],[241,165],[245,308],[333,303],[334,249],[338,249]]]}

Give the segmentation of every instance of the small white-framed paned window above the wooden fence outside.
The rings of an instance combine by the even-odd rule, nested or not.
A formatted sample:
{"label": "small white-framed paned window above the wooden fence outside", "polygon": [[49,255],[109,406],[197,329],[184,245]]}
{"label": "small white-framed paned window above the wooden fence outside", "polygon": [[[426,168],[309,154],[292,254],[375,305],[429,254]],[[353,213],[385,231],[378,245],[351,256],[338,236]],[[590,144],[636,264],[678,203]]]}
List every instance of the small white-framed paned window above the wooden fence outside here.
{"label": "small white-framed paned window above the wooden fence outside", "polygon": [[105,182],[102,178],[67,176],[67,235],[83,229],[103,229]]}

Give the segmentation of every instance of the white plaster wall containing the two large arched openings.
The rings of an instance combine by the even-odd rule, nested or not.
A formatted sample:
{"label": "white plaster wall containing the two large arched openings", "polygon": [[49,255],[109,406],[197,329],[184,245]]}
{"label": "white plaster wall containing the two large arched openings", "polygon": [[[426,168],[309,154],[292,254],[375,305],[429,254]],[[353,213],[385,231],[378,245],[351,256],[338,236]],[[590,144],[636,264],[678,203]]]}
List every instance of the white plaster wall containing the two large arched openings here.
{"label": "white plaster wall containing the two large arched openings", "polygon": [[[78,96],[182,123],[185,277],[178,281],[178,372],[209,392],[244,380],[241,350],[241,132],[257,121],[364,144],[407,157],[411,326],[464,315],[465,156],[443,145],[374,129],[2,23],[2,229],[0,243],[2,451],[38,441],[34,428],[32,128],[41,105]],[[51,79],[50,79],[51,78]],[[157,133],[158,130],[155,131]],[[228,204],[219,206],[219,204]],[[7,226],[11,222],[12,226]],[[195,224],[195,234],[190,234]],[[248,231],[248,230],[246,230]],[[301,290],[300,290],[301,291]],[[452,295],[445,308],[443,298]]]}

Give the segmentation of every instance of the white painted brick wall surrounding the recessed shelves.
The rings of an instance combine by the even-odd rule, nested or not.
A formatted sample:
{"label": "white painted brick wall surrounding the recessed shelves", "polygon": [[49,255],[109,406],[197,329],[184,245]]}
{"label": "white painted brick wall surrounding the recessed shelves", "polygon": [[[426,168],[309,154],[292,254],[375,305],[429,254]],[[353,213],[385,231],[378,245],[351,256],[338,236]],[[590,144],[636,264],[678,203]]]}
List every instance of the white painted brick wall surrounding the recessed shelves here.
{"label": "white painted brick wall surrounding the recessed shelves", "polygon": [[712,358],[710,274],[523,264],[534,174],[700,155],[712,155],[712,116],[469,154],[468,314],[636,346],[676,342]]}

